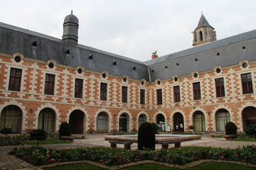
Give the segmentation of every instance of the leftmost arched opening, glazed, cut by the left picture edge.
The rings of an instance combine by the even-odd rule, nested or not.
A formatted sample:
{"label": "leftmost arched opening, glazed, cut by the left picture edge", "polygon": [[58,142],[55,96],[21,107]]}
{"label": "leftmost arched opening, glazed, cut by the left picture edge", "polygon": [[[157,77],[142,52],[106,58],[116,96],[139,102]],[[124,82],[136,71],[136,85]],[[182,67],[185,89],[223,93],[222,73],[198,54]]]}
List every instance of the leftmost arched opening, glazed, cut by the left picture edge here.
{"label": "leftmost arched opening, glazed, cut by the left picture edge", "polygon": [[18,106],[6,106],[1,111],[0,129],[11,128],[14,133],[21,133],[22,111]]}

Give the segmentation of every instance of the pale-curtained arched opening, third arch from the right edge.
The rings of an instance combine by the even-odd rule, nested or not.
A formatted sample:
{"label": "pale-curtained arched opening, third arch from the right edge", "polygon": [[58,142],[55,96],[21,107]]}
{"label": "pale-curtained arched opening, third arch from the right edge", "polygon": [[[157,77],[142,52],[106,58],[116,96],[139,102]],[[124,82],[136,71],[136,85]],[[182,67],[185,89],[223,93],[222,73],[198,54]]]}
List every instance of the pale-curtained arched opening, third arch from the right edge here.
{"label": "pale-curtained arched opening, third arch from the right edge", "polygon": [[193,113],[193,126],[195,126],[196,132],[206,131],[206,119],[203,112],[196,111]]}

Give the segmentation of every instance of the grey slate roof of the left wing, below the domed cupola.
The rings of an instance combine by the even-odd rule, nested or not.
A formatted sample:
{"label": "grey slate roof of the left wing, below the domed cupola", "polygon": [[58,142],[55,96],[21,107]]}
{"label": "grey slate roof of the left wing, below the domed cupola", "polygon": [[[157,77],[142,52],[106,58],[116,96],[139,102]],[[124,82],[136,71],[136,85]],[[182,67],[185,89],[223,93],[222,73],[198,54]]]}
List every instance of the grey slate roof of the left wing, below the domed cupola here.
{"label": "grey slate roof of the left wing, below the domed cupola", "polygon": [[[35,42],[37,47],[32,45]],[[70,54],[67,54],[68,51]],[[5,23],[0,23],[0,52],[10,55],[21,52],[31,59],[55,60],[58,64],[71,67],[82,66],[96,72],[107,71],[120,77],[127,75],[132,79],[149,81],[148,69],[143,62],[85,45],[73,45],[58,38]]]}

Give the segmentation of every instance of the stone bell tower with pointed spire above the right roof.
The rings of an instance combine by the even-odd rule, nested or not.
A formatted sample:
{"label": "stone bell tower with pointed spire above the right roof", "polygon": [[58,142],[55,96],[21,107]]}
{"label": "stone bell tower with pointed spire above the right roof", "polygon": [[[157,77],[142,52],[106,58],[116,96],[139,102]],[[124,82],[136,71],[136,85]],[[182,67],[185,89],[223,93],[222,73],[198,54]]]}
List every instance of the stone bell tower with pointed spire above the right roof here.
{"label": "stone bell tower with pointed spire above the right roof", "polygon": [[192,32],[193,33],[193,46],[206,44],[208,42],[213,42],[216,39],[216,31],[206,20],[206,17],[203,16],[203,12],[201,13],[200,20],[198,22],[198,26]]}

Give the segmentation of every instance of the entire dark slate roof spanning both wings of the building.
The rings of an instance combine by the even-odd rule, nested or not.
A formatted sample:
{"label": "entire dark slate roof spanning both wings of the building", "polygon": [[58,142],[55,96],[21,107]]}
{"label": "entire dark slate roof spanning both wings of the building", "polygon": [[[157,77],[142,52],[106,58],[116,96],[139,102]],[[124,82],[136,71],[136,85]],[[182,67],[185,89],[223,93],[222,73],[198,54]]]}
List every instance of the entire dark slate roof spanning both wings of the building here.
{"label": "entire dark slate roof spanning both wings of the building", "polygon": [[[35,41],[37,47],[32,45]],[[67,54],[67,51],[70,54]],[[147,62],[139,62],[93,47],[72,45],[58,38],[0,23],[0,52],[10,55],[21,52],[31,59],[55,60],[58,64],[82,66],[96,72],[107,71],[120,77],[127,75],[137,80],[149,81],[150,72],[151,81],[155,81],[171,79],[174,75],[181,77],[193,71],[203,72],[215,66],[227,67],[242,60],[255,60],[256,30],[174,52]],[[92,60],[89,59],[90,56]]]}

